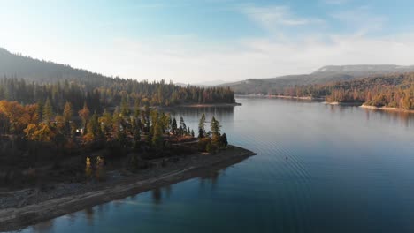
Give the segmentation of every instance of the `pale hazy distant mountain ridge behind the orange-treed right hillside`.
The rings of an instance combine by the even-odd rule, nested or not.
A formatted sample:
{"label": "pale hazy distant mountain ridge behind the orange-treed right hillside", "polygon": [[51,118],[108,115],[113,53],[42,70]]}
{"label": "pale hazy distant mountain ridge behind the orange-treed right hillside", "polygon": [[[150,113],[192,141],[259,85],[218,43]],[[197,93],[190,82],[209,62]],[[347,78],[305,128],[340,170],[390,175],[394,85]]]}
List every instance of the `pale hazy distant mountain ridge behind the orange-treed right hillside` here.
{"label": "pale hazy distant mountain ridge behind the orange-treed right hillside", "polygon": [[414,66],[392,64],[328,65],[310,74],[287,75],[271,79],[247,79],[226,83],[236,94],[276,94],[287,86],[323,84],[367,76],[414,71]]}

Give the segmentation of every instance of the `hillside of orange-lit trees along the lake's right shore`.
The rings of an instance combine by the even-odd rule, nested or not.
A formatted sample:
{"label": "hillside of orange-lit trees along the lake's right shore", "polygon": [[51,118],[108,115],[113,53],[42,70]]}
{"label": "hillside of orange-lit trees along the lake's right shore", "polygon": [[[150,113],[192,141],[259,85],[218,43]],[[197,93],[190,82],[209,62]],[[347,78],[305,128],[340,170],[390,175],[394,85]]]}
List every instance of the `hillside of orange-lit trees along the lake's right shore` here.
{"label": "hillside of orange-lit trees along the lake's right shore", "polygon": [[324,97],[331,102],[357,102],[375,107],[414,109],[414,73],[379,75],[324,85],[294,86],[285,88],[279,94]]}

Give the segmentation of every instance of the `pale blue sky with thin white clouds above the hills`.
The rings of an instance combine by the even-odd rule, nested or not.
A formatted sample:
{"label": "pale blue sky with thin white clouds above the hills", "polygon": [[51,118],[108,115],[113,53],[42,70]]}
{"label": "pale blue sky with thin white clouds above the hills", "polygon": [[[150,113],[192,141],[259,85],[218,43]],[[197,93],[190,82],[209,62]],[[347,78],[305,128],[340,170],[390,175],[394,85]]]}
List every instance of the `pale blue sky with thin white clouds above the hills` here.
{"label": "pale blue sky with thin white clouds above the hills", "polygon": [[414,64],[412,9],[412,0],[0,0],[0,47],[122,78],[272,78]]}

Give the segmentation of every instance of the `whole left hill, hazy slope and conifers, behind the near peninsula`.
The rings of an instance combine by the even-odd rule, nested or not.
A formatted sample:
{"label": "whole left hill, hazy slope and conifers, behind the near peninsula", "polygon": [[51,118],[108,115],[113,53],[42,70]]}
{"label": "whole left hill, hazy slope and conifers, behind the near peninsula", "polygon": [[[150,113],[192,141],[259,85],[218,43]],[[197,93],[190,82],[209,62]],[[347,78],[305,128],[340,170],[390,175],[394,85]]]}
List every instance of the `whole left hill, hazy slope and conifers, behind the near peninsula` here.
{"label": "whole left hill, hazy slope and conifers, behind the near peninsula", "polygon": [[172,82],[148,82],[109,78],[101,74],[74,69],[14,55],[0,49],[0,100],[20,103],[45,103],[63,110],[69,101],[74,109],[84,103],[89,109],[120,106],[171,106],[191,103],[233,103],[234,92],[228,87],[177,86]]}

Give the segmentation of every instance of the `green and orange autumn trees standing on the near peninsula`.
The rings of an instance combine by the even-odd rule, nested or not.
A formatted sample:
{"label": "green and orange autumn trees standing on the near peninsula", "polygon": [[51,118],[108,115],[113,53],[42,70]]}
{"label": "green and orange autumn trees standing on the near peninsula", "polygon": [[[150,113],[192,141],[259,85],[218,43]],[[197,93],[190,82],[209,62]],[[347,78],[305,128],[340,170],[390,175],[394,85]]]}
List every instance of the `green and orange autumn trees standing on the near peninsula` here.
{"label": "green and orange autumn trees standing on the near peninsula", "polygon": [[[221,124],[211,119],[211,131],[205,129],[205,116],[196,132],[184,119],[169,113],[136,105],[134,110],[122,105],[113,112],[92,113],[85,103],[75,112],[67,101],[62,112],[55,112],[50,101],[21,105],[17,101],[0,101],[0,152],[3,165],[32,166],[35,162],[69,154],[109,149],[116,154],[142,152],[143,157],[157,158],[173,148],[173,144],[196,139],[199,151],[215,152],[227,146]],[[49,149],[46,149],[49,148]],[[113,156],[113,155],[112,155]],[[141,156],[141,157],[142,157]],[[16,163],[17,162],[17,163]],[[31,165],[32,164],[32,165]]]}

